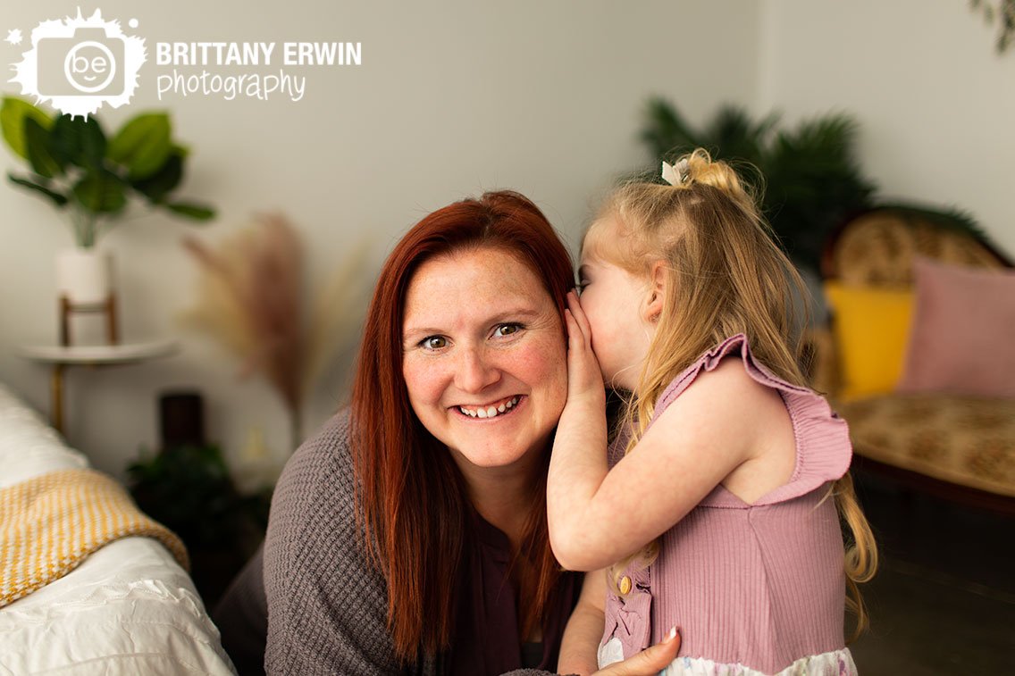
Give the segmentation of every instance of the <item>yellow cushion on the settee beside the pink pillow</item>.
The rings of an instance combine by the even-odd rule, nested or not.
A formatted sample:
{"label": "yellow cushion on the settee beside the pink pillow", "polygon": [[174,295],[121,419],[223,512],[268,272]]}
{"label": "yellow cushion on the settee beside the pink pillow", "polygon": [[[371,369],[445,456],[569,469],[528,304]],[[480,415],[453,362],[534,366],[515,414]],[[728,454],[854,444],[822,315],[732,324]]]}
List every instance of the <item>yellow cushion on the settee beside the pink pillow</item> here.
{"label": "yellow cushion on the settee beside the pink pillow", "polygon": [[912,317],[912,291],[826,282],[842,399],[895,390],[902,375]]}

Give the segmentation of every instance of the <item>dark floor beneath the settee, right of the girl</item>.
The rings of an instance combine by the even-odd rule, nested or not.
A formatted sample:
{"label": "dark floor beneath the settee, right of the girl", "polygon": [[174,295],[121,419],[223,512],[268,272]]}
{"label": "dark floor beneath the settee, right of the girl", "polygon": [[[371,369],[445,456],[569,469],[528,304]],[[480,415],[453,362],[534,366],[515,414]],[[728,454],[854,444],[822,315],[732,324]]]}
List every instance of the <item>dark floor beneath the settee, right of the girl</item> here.
{"label": "dark floor beneath the settee, right of the girl", "polygon": [[856,478],[882,552],[871,630],[851,647],[860,673],[1015,671],[1015,519]]}

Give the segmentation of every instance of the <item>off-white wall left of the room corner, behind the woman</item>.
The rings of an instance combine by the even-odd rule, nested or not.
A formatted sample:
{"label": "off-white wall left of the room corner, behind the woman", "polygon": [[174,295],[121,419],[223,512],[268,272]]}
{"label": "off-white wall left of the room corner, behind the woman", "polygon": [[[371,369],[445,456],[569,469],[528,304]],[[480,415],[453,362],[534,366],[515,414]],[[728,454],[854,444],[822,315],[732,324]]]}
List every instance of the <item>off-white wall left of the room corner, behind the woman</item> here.
{"label": "off-white wall left of the room corner, behind the woman", "polygon": [[[78,3],[5,3],[0,29],[25,36]],[[361,42],[357,68],[287,69],[308,78],[303,100],[159,103],[156,69],[126,108],[99,112],[107,127],[147,108],[167,108],[193,152],[182,195],[214,203],[218,241],[252,212],[281,209],[299,226],[315,283],[363,233],[376,262],[426,212],[469,194],[514,188],[533,198],[573,242],[590,200],[614,175],[640,165],[638,113],[650,93],[679,100],[693,122],[723,102],[756,102],[760,9],[754,3],[649,0],[486,3],[130,2],[100,4],[107,18],[140,22],[156,42]],[[93,10],[82,4],[85,15]],[[845,11],[845,10],[841,10]],[[131,32],[128,30],[128,32]],[[0,43],[13,63],[27,45]],[[706,63],[706,68],[690,67]],[[159,71],[161,72],[161,71]],[[4,92],[17,93],[3,84]],[[0,151],[0,168],[20,168]],[[48,371],[15,354],[56,341],[54,254],[71,245],[62,216],[0,186],[0,381],[48,407]],[[235,457],[263,426],[278,458],[289,452],[286,418],[259,380],[238,382],[238,364],[210,340],[183,331],[195,267],[179,246],[187,226],[141,215],[106,238],[120,267],[126,339],[178,337],[166,359],[69,374],[70,442],[121,474],[138,447],[156,441],[156,397],[196,387],[208,432]],[[376,265],[375,265],[376,269]],[[344,394],[339,363],[308,405],[308,429]]]}

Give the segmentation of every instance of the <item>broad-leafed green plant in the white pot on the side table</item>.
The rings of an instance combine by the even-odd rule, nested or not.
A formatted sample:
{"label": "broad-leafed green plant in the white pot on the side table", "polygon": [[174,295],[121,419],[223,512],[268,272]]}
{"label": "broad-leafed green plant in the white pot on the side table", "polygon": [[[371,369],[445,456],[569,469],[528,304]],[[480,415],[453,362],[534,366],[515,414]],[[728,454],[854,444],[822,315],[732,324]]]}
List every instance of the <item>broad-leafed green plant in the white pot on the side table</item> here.
{"label": "broad-leafed green plant in the white pot on the side table", "polygon": [[132,198],[195,221],[215,215],[211,207],[174,197],[189,150],[173,139],[165,113],[142,113],[111,138],[94,117],[50,116],[26,100],[4,96],[0,129],[30,170],[7,178],[69,211],[82,249],[94,247],[104,224],[121,216]]}

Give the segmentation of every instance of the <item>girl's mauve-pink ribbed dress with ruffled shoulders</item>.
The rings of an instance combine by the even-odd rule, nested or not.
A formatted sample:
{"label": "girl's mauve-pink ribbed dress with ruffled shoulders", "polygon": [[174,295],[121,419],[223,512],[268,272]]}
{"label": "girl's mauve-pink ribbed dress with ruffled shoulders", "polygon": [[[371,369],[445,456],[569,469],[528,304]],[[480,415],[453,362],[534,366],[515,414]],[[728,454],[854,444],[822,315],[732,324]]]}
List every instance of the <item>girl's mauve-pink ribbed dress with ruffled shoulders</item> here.
{"label": "girl's mauve-pink ribbed dress with ruffled shoulders", "polygon": [[[797,444],[789,482],[753,504],[717,486],[667,531],[648,568],[630,567],[606,600],[600,667],[659,643],[681,627],[681,649],[664,674],[855,674],[843,640],[842,534],[828,484],[850,467],[845,421],[820,395],[773,376],[741,334],[703,354],[674,379],[654,418],[724,357],[776,390]],[[611,465],[622,447],[610,451]]]}

